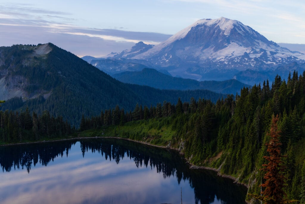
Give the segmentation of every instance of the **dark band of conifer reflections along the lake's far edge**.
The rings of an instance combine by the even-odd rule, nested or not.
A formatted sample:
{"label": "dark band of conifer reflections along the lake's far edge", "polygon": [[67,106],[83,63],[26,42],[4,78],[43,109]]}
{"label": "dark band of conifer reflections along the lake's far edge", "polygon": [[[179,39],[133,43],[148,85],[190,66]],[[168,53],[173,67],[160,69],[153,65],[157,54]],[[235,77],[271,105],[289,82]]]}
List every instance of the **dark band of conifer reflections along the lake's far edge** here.
{"label": "dark band of conifer reflections along the lake's far edge", "polygon": [[[69,150],[80,143],[83,157],[86,152],[98,152],[106,160],[117,164],[124,157],[135,162],[139,168],[156,169],[164,178],[173,176],[178,184],[188,181],[194,189],[196,203],[212,203],[217,198],[222,203],[244,203],[246,188],[231,180],[219,177],[215,172],[202,169],[189,169],[185,160],[176,151],[151,147],[122,139],[81,139],[58,142],[23,144],[0,147],[0,166],[3,172],[13,169],[27,169],[32,165],[47,166],[57,157],[68,157]],[[182,189],[183,191],[183,189]]]}

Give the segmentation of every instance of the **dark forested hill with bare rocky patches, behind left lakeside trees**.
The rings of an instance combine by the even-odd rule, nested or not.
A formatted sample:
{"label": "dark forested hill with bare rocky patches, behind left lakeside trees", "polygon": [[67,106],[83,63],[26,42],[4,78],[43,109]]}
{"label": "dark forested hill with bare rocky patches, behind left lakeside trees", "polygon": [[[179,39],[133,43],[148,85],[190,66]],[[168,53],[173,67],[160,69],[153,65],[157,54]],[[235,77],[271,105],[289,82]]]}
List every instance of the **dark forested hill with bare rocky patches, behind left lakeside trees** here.
{"label": "dark forested hill with bare rocky patches, behind left lakeside trees", "polygon": [[[136,103],[150,106],[178,97],[210,98],[225,95],[207,90],[160,91],[151,87],[121,83],[79,57],[52,43],[0,47],[0,99],[6,109],[42,114],[48,110],[76,126],[81,116],[99,114],[116,105],[131,110]],[[7,96],[15,96],[7,100]]]}

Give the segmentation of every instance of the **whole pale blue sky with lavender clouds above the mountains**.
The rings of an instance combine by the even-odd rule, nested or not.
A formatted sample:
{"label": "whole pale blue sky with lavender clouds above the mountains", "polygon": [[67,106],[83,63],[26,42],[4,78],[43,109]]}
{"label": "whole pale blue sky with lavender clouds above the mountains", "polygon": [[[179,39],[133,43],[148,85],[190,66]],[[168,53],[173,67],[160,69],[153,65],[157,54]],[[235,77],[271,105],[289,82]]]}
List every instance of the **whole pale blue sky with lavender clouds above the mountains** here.
{"label": "whole pale blue sky with lavender clouds above the mountains", "polygon": [[100,57],[220,17],[276,43],[305,44],[304,10],[303,0],[0,0],[0,46],[51,42]]}

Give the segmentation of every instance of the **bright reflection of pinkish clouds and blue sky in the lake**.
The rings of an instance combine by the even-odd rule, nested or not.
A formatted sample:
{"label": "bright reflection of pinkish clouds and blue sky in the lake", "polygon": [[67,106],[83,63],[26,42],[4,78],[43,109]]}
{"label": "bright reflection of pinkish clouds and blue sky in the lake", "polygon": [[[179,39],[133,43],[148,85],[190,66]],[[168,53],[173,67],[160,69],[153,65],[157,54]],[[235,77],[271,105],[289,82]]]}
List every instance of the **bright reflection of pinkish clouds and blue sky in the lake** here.
{"label": "bright reflection of pinkish clouds and blue sky in the lake", "polygon": [[[56,158],[54,162],[58,164],[37,164],[30,173],[22,170],[3,174],[1,203],[157,203],[160,200],[179,203],[181,199],[180,187],[176,187],[177,179],[173,176],[165,180],[154,168],[144,165],[137,168],[127,156],[117,165],[97,152],[82,158],[74,151],[80,152],[77,145],[71,148],[68,158]],[[182,181],[181,186],[183,191],[193,191],[187,181]],[[189,195],[192,196],[184,199],[194,203],[193,192]]]}

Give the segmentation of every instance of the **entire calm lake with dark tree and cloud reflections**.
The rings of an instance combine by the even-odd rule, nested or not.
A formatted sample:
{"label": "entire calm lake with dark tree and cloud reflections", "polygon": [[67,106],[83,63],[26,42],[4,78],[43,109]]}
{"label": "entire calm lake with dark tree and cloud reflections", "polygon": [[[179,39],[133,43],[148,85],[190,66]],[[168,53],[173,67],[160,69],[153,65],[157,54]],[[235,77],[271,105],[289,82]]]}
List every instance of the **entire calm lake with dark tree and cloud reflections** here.
{"label": "entire calm lake with dark tree and cloud reflections", "polygon": [[246,188],[121,139],[0,147],[0,203],[244,203]]}

